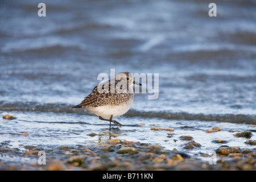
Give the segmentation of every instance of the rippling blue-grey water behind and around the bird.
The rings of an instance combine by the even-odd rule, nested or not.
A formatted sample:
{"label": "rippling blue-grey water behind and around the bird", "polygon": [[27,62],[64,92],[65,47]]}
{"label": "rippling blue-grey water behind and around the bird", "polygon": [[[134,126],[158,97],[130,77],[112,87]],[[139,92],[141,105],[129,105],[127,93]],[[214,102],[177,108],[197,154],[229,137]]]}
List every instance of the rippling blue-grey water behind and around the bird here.
{"label": "rippling blue-grey water behind and around the bird", "polygon": [[[159,97],[135,94],[112,138],[183,150],[188,141],[179,137],[191,135],[202,145],[185,151],[194,154],[221,146],[214,139],[255,148],[230,132],[251,130],[256,139],[255,1],[219,1],[212,18],[205,1],[44,1],[46,17],[38,3],[1,1],[0,114],[17,117],[0,119],[1,142],[108,140],[108,122],[72,106],[100,82],[98,74],[115,69],[159,73]],[[152,126],[172,127],[174,135]],[[205,132],[213,126],[222,131]]]}

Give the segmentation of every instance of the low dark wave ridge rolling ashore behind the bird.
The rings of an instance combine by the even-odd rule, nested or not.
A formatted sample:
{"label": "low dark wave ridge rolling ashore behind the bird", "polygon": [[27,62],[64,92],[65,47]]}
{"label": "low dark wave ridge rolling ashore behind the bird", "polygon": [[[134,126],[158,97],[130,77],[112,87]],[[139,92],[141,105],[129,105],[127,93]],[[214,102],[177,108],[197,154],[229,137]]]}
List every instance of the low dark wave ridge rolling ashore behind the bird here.
{"label": "low dark wave ridge rolling ashore behind the bird", "polygon": [[[40,111],[52,113],[77,113],[93,115],[84,109],[73,109],[73,105],[68,104],[39,104],[37,102],[14,102],[5,103],[0,101],[1,111]],[[139,111],[131,109],[126,114],[127,117],[142,117],[142,118],[161,118],[175,119],[188,121],[218,121],[230,123],[246,123],[256,124],[256,115],[245,114],[193,114],[193,113],[171,113],[170,111]]]}

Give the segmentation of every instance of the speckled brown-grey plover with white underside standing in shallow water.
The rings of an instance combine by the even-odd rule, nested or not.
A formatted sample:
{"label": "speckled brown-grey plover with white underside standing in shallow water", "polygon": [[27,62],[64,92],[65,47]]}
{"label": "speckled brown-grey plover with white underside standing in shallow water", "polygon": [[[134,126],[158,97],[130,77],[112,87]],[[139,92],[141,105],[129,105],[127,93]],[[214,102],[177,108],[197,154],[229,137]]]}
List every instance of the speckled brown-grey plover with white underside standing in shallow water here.
{"label": "speckled brown-grey plover with white underside standing in shallow water", "polygon": [[134,84],[141,85],[134,80],[131,73],[118,73],[115,78],[95,86],[92,93],[73,108],[82,107],[98,115],[99,119],[109,121],[109,130],[111,130],[111,122],[123,126],[113,118],[125,114],[130,109],[134,98]]}

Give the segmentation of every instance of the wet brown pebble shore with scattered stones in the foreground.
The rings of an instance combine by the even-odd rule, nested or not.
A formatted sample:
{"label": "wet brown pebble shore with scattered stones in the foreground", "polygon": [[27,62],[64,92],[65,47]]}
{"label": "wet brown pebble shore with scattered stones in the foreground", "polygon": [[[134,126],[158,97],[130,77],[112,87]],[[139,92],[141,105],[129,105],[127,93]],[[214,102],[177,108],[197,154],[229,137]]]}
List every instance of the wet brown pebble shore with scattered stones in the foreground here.
{"label": "wet brown pebble shore with scattered stones in the foreground", "polygon": [[[5,116],[7,117],[7,116]],[[9,118],[13,118],[10,117]],[[167,131],[167,137],[175,134],[172,128],[151,127],[151,130]],[[206,133],[221,132],[220,127],[213,127]],[[22,133],[20,137],[29,134]],[[89,133],[89,137],[99,137],[99,134]],[[252,170],[256,169],[256,147],[240,148],[226,146],[226,140],[213,140],[222,144],[213,154],[200,152],[201,144],[193,137],[182,135],[179,140],[183,150],[166,150],[166,148],[151,143],[141,143],[118,139],[114,132],[101,133],[105,139],[98,144],[76,145],[39,145],[19,144],[14,147],[11,141],[3,141],[0,145],[0,170],[40,170],[40,171],[155,171],[155,170]],[[206,134],[207,135],[207,134]],[[251,131],[234,134],[236,138],[247,138],[246,144],[255,146],[256,141],[250,140]],[[113,139],[111,139],[113,138]],[[193,154],[192,150],[197,150]],[[199,150],[199,151],[198,151]],[[39,152],[45,152],[45,158]],[[44,163],[42,163],[44,160]]]}

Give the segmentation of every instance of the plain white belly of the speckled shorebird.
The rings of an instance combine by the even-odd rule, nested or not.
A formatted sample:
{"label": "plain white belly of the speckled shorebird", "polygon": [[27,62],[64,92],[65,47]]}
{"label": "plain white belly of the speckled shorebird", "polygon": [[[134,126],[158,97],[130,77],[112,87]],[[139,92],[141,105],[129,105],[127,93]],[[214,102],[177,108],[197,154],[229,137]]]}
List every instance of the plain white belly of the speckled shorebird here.
{"label": "plain white belly of the speckled shorebird", "polygon": [[111,115],[113,115],[113,118],[115,118],[125,114],[130,109],[132,104],[133,99],[130,99],[128,102],[117,106],[108,105],[98,107],[85,107],[84,109],[87,109],[98,116],[109,119]]}

